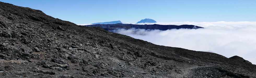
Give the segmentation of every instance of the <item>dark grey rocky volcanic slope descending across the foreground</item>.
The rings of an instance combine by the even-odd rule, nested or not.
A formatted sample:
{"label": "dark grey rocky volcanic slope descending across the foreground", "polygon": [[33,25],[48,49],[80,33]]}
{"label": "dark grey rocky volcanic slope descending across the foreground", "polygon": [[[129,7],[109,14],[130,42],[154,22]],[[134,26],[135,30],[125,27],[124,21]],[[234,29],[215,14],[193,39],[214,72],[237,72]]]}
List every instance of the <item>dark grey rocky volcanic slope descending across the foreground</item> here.
{"label": "dark grey rocky volcanic slope descending across the foreground", "polygon": [[256,65],[166,47],[0,2],[0,76],[256,77]]}

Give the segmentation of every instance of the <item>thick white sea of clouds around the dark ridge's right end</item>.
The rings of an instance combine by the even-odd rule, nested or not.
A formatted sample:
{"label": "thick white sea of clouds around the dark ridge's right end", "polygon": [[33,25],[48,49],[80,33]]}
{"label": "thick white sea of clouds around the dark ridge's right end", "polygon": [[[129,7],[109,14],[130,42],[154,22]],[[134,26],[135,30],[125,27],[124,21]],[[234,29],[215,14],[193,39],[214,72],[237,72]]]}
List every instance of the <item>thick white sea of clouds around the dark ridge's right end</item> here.
{"label": "thick white sea of clouds around the dark ridge's right end", "polygon": [[227,58],[237,55],[256,64],[256,22],[172,22],[141,24],[187,24],[205,28],[172,29],[166,31],[119,29],[114,32],[157,45],[213,52]]}

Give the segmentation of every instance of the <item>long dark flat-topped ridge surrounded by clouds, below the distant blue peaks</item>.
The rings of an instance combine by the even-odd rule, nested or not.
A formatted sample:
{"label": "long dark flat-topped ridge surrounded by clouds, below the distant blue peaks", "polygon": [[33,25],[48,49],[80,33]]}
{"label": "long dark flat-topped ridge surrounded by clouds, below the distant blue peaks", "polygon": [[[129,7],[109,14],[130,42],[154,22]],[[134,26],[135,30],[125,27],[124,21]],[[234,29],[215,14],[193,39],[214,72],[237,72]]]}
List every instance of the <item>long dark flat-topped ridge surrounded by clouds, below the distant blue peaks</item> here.
{"label": "long dark flat-topped ridge surrounded by clouds, below the distant blue peaks", "polygon": [[171,30],[171,29],[199,29],[203,28],[195,25],[137,25],[137,24],[95,24],[95,25],[84,25],[87,27],[101,27],[105,30],[115,29],[145,29],[145,30]]}

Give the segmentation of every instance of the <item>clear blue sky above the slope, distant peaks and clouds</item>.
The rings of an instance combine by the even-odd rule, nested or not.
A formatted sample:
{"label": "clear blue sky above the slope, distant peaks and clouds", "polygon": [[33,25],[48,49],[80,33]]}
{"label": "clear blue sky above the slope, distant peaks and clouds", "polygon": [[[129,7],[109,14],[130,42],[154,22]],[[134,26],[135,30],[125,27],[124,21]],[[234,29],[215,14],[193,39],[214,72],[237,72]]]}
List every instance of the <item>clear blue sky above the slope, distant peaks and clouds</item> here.
{"label": "clear blue sky above the slope, distant peaks and clouds", "polygon": [[256,0],[0,0],[76,24],[256,21]]}

